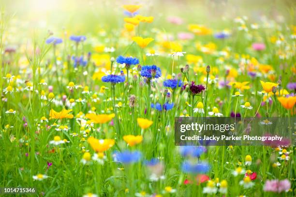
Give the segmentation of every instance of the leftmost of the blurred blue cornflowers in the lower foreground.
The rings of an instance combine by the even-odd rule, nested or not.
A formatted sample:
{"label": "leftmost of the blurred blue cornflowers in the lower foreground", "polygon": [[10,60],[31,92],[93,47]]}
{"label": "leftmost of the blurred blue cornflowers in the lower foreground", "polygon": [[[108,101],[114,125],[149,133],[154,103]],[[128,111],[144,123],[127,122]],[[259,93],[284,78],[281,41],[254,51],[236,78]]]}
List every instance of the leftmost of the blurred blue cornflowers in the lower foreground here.
{"label": "leftmost of the blurred blue cornflowers in the lower foreground", "polygon": [[139,151],[134,151],[134,152],[124,151],[122,153],[116,151],[113,154],[114,161],[121,162],[124,164],[138,162],[141,159],[141,157],[142,157],[142,154]]}

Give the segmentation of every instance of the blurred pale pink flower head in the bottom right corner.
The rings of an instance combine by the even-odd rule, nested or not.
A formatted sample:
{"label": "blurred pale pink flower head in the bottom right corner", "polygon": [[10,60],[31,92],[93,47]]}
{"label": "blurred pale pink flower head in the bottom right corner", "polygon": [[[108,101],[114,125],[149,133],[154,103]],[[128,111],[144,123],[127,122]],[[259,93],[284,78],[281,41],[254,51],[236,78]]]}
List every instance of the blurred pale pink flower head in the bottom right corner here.
{"label": "blurred pale pink flower head in the bottom right corner", "polygon": [[264,184],[263,190],[266,192],[277,192],[288,191],[291,188],[291,183],[288,179],[284,180],[267,180]]}

